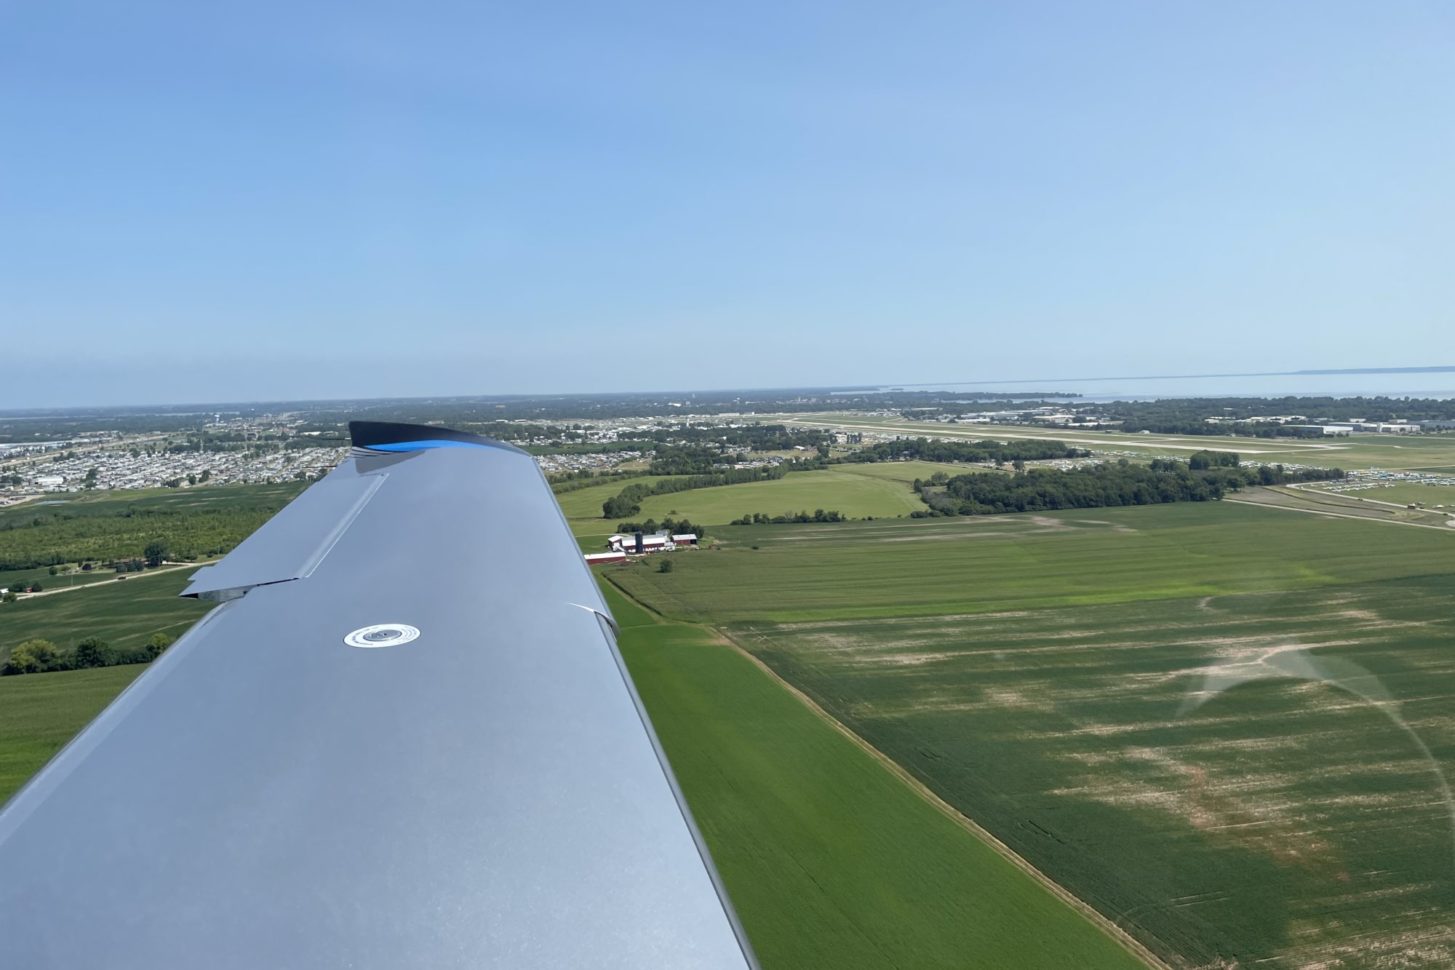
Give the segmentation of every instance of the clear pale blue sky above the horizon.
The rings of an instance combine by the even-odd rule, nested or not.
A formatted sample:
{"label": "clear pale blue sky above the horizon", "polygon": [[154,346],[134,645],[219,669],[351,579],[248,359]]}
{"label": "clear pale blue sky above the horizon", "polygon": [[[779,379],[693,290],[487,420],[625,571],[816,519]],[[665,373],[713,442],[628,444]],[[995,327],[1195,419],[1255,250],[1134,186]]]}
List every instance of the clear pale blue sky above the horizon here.
{"label": "clear pale blue sky above the horizon", "polygon": [[0,407],[1452,364],[1429,3],[0,0]]}

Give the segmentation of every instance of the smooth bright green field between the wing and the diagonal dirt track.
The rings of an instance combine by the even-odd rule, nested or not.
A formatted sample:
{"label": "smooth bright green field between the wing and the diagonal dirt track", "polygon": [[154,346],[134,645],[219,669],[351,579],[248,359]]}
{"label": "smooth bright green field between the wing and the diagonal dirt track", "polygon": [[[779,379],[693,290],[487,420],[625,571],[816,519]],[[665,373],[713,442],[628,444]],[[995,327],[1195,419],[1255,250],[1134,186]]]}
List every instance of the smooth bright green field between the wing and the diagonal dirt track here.
{"label": "smooth bright green field between the wing and the diagonal dirt track", "polygon": [[607,596],[765,970],[1141,966],[709,630]]}

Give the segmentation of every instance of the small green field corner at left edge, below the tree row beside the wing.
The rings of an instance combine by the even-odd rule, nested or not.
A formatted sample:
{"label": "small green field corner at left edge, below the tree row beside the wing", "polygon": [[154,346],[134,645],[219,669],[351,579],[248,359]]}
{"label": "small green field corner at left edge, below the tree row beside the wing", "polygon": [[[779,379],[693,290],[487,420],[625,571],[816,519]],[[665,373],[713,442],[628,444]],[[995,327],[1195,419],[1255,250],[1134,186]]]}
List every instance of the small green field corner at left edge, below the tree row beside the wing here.
{"label": "small green field corner at left edge, below the tree row beside the wing", "polygon": [[0,804],[146,669],[0,678]]}

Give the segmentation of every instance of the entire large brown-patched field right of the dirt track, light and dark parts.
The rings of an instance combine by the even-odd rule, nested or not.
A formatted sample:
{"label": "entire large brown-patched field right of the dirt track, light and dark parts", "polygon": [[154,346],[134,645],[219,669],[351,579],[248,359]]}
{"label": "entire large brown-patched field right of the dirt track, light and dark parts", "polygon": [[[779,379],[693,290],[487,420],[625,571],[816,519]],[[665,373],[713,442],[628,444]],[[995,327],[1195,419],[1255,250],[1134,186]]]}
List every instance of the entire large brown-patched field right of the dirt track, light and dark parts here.
{"label": "entire large brown-patched field right of the dirt track, light and dark parts", "polygon": [[1211,503],[760,532],[611,577],[1174,966],[1455,963],[1455,531]]}

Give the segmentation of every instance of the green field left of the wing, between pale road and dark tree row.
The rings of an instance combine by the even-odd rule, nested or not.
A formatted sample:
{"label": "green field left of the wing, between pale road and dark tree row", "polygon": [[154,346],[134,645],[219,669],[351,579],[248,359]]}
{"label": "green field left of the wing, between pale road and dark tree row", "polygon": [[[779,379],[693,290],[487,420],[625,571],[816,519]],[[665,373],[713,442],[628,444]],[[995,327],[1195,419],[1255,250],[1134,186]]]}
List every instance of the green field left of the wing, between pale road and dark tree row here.
{"label": "green field left of the wing, between pale road and dark tree row", "polygon": [[[92,589],[32,596],[0,605],[0,660],[32,637],[73,647],[84,637],[100,637],[113,647],[137,647],[154,633],[182,636],[211,604],[182,599],[191,569],[137,574]],[[26,675],[51,676],[51,675]],[[23,681],[3,678],[0,681]]]}

